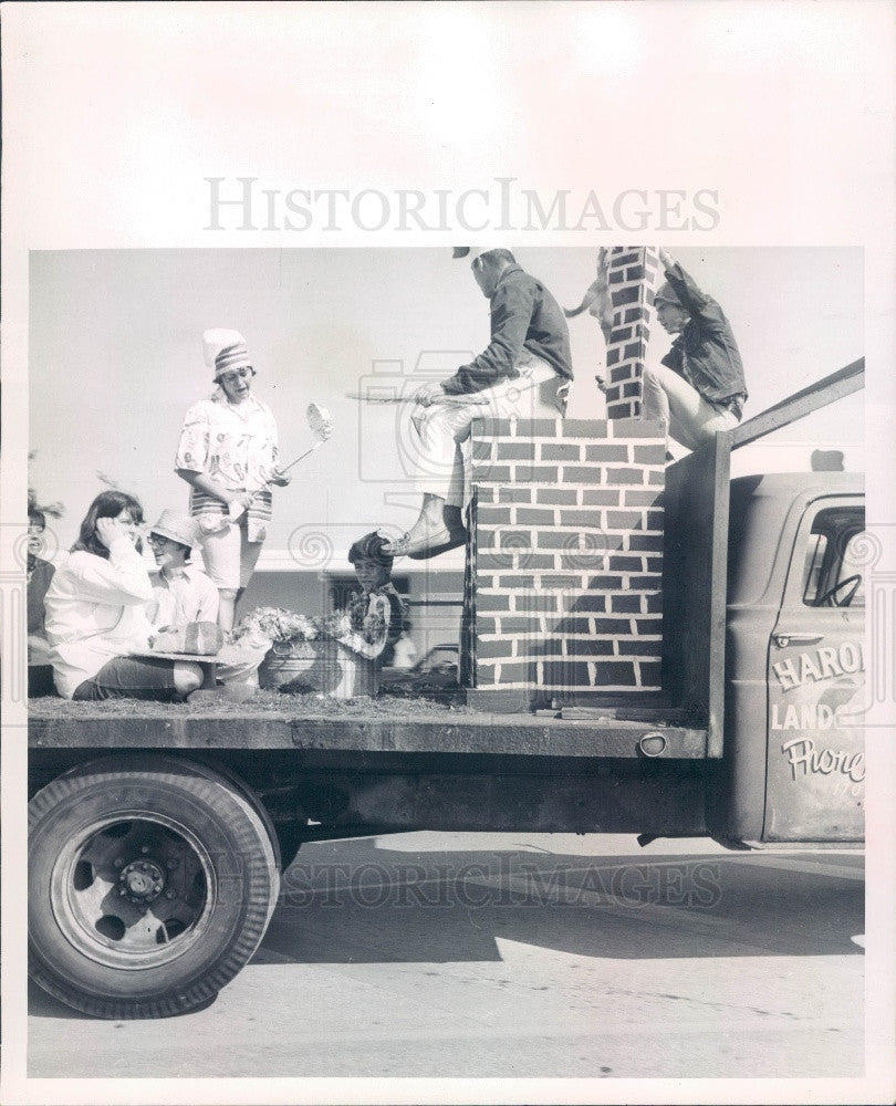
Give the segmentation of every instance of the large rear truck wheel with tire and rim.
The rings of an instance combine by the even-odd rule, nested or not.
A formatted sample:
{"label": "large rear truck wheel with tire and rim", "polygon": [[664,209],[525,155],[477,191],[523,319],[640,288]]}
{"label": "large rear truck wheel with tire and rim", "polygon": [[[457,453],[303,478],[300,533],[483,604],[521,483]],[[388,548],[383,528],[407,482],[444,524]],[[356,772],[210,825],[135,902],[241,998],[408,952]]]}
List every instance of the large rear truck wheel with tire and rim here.
{"label": "large rear truck wheel with tire and rim", "polygon": [[94,1016],[191,1010],[256,951],[278,886],[261,818],[212,770],[80,765],[29,804],[29,970]]}

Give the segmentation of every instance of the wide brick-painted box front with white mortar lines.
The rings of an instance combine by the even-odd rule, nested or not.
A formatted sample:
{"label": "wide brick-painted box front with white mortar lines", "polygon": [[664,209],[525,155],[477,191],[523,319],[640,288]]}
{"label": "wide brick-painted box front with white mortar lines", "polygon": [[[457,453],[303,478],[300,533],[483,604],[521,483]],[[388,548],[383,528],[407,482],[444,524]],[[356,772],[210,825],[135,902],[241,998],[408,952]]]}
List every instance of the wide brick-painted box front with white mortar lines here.
{"label": "wide brick-painted box front with white mortar lines", "polygon": [[472,428],[478,689],[659,688],[665,440],[642,419]]}

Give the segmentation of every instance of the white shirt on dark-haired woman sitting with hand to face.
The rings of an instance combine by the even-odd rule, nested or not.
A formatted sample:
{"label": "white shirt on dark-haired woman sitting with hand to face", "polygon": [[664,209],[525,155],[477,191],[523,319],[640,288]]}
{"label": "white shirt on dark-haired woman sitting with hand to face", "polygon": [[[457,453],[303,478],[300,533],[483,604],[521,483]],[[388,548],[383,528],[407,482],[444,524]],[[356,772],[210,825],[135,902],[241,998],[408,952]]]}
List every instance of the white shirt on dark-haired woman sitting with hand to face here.
{"label": "white shirt on dark-haired woman sitting with hand to face", "polygon": [[46,592],[46,639],[56,690],[71,699],[107,661],[145,651],[152,626],[149,573],[131,540],[116,538],[108,560],[70,553]]}

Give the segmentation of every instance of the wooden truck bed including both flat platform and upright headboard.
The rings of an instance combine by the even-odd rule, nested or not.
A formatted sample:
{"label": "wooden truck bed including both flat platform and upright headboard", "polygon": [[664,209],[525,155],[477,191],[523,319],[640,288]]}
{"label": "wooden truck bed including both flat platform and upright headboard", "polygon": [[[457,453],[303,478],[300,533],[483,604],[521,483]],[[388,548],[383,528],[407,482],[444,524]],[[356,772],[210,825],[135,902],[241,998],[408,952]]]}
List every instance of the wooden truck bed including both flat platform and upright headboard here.
{"label": "wooden truck bed including both flat platform and upright headboard", "polygon": [[[322,703],[260,692],[244,703],[29,703],[32,749],[304,750],[597,759],[718,760],[722,754],[730,440],[667,470],[664,686],[646,701],[535,714],[381,695]],[[458,700],[462,700],[459,692]]]}

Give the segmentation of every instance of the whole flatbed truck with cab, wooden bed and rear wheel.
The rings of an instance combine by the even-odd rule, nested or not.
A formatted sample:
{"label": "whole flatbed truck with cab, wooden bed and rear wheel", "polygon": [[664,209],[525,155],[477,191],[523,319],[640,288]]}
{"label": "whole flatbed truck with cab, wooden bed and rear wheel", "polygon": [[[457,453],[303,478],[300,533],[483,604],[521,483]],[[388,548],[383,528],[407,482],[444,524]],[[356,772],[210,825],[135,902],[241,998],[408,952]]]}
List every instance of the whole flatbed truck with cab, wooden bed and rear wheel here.
{"label": "whole flatbed truck with cab, wooden bed and rear wheel", "polygon": [[388,697],[332,710],[289,696],[263,710],[33,700],[33,979],[95,1016],[204,1003],[252,957],[310,839],[427,828],[861,847],[862,476],[730,479],[732,448],[861,373],[666,470],[659,696],[508,714]]}

